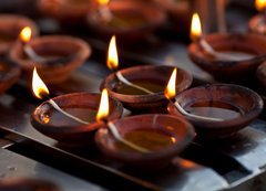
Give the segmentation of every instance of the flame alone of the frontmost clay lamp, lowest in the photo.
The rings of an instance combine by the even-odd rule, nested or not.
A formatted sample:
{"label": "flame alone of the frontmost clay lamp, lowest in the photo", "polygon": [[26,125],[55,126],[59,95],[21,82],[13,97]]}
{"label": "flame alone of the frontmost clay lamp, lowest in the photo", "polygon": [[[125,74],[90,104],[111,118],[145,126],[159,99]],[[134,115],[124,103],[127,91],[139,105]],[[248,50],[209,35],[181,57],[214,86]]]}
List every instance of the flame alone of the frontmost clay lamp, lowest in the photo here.
{"label": "flame alone of the frontmost clay lamp, lowest in the photo", "polygon": [[98,121],[103,120],[108,116],[109,116],[109,94],[108,94],[108,89],[104,88],[101,94],[101,100],[100,100],[100,105],[96,114],[96,120]]}

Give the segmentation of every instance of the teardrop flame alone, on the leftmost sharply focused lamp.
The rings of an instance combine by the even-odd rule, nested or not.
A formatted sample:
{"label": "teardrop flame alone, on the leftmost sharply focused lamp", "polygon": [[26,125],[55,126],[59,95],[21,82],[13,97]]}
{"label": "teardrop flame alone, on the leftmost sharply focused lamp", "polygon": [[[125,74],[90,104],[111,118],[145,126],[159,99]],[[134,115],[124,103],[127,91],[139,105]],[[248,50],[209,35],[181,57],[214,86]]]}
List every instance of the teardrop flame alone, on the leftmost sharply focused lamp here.
{"label": "teardrop flame alone, on the leftmost sharply focused lamp", "polygon": [[41,77],[37,73],[37,68],[33,70],[32,75],[32,91],[38,98],[43,98],[43,95],[49,96],[49,89],[47,85],[42,82]]}

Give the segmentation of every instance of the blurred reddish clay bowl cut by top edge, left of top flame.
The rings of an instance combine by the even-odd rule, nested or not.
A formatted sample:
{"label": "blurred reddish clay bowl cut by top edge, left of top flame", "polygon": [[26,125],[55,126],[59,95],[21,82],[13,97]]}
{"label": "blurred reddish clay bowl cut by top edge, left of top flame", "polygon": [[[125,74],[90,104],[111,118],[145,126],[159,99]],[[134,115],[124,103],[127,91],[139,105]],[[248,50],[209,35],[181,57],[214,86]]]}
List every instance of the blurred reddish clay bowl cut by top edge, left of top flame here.
{"label": "blurred reddish clay bowl cut by top edge, left of top flame", "polygon": [[45,15],[74,24],[85,21],[88,12],[93,10],[93,0],[39,0],[38,7]]}

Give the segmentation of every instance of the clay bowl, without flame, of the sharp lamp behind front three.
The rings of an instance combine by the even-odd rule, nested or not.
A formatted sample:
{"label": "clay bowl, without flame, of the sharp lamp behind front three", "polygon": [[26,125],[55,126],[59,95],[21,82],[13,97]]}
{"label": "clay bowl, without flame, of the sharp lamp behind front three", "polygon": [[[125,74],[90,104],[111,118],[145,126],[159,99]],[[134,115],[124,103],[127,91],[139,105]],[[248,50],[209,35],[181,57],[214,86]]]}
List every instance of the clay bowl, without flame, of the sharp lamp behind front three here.
{"label": "clay bowl, without flame, of the sharp lamp behind front three", "polygon": [[[120,73],[131,83],[145,87],[153,94],[144,93],[140,89],[121,83],[114,74],[109,75],[102,83],[102,88],[109,91],[109,95],[122,102],[123,106],[136,113],[158,113],[166,112],[168,100],[164,96],[164,88],[167,85],[173,66],[134,66],[121,70]],[[176,77],[176,92],[182,92],[191,86],[192,75],[178,68]]]}

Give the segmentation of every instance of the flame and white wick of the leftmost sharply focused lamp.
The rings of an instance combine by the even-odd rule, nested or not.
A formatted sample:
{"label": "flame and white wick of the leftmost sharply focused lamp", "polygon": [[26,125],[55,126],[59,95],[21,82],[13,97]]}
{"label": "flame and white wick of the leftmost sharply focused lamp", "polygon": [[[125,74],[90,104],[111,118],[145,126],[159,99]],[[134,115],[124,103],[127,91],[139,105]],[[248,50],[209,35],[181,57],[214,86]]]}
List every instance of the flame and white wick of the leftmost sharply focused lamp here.
{"label": "flame and white wick of the leftmost sharply focused lamp", "polygon": [[65,115],[66,117],[73,119],[80,124],[84,124],[84,125],[89,124],[88,121],[84,121],[84,120],[64,112],[63,109],[61,109],[59,107],[59,105],[49,97],[49,89],[48,89],[47,85],[42,82],[40,76],[38,75],[35,67],[33,70],[33,75],[32,75],[32,91],[38,98],[40,98],[40,99],[47,98],[48,103],[51,104],[54,109],[57,109],[61,114]]}

